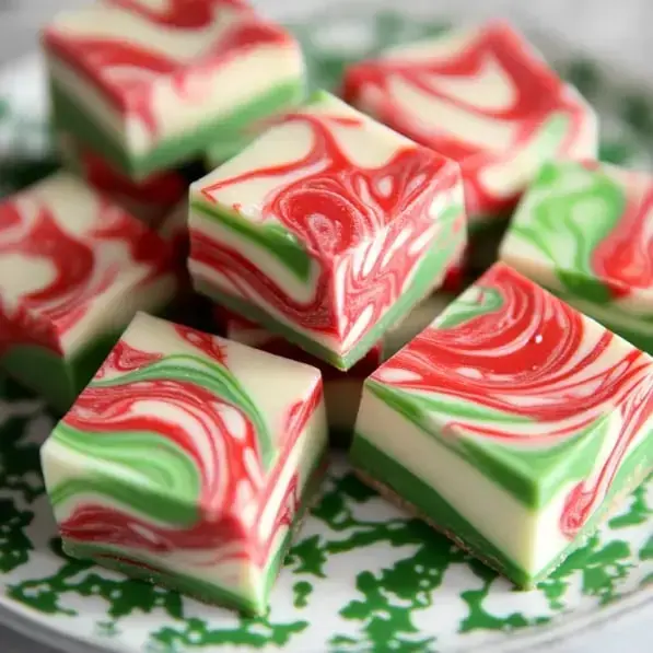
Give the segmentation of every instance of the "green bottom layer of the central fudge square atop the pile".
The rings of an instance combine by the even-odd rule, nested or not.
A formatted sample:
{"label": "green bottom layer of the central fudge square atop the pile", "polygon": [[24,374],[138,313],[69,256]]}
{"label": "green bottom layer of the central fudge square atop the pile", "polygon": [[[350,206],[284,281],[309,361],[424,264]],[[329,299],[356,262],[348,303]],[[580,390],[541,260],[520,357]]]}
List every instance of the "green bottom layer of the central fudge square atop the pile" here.
{"label": "green bottom layer of the central fudge square atop the pile", "polygon": [[[457,250],[456,243],[453,250]],[[310,336],[295,331],[285,323],[277,319],[261,307],[250,304],[240,298],[235,298],[213,288],[209,281],[194,279],[195,290],[206,294],[213,301],[238,313],[249,322],[261,325],[267,330],[279,334],[290,342],[301,347],[310,354],[334,365],[334,368],[347,371],[360,361],[378,342],[382,336],[392,328],[399,319],[408,315],[430,291],[433,279],[441,276],[445,267],[451,263],[448,253],[435,249],[430,253],[421,263],[410,288],[403,292],[393,306],[386,311],[383,317],[358,341],[357,346],[346,353],[337,353],[324,345],[316,342]]]}

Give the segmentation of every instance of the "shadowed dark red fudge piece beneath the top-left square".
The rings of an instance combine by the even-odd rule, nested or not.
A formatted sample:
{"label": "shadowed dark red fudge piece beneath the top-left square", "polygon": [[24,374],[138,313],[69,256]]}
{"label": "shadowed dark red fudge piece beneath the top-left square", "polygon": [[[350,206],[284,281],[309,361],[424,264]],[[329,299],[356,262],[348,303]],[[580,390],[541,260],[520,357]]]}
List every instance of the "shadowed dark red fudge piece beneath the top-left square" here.
{"label": "shadowed dark red fudge piece beneath the top-left square", "polygon": [[133,182],[68,135],[59,135],[57,144],[68,170],[153,229],[188,195],[188,182],[177,170]]}

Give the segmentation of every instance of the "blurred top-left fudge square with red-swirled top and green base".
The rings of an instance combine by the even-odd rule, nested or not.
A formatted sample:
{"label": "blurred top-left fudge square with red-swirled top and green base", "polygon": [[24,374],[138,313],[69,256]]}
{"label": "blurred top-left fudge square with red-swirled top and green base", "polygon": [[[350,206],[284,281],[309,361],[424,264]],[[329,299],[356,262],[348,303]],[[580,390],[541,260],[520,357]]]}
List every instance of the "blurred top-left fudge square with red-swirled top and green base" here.
{"label": "blurred top-left fudge square with red-swirled top and green base", "polygon": [[242,0],[104,0],[45,30],[54,121],[128,176],[249,140],[299,102],[299,45]]}

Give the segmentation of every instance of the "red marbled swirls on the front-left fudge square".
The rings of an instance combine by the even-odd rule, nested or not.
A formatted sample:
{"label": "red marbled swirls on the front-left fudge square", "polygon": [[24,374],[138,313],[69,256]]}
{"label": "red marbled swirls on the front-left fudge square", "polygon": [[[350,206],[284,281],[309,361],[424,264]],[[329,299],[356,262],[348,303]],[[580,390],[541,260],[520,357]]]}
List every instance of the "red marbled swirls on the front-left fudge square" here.
{"label": "red marbled swirls on the front-left fudge square", "polygon": [[[226,364],[224,346],[215,337],[178,325],[175,331],[215,362]],[[100,378],[143,370],[162,360],[164,357],[160,353],[140,351],[121,340],[105,362]],[[139,403],[148,400],[184,412],[185,423],[191,422],[194,428],[189,430],[164,415],[135,409]],[[190,526],[162,525],[120,508],[83,500],[60,524],[62,537],[151,555],[196,551],[201,557],[198,564],[206,567],[238,560],[264,567],[281,529],[292,525],[299,510],[298,471],[284,489],[272,528],[264,536],[259,534],[261,515],[298,438],[320,400],[322,386],[316,384],[306,400],[289,407],[288,439],[268,474],[261,467],[256,427],[247,413],[194,382],[190,375],[188,380],[183,376],[156,381],[137,378],[108,387],[88,387],[66,416],[65,423],[89,436],[150,433],[174,442],[194,460],[200,477],[198,516]],[[243,428],[238,433],[232,431],[225,419],[228,409],[240,416]]]}

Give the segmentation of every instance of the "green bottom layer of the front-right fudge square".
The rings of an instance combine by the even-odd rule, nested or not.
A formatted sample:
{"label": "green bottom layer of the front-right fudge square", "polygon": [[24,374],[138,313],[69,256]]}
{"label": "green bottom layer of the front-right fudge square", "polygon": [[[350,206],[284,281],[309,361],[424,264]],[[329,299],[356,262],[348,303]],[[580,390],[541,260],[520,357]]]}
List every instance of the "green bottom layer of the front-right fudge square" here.
{"label": "green bottom layer of the front-right fudge square", "polygon": [[[363,473],[363,479],[371,478],[371,485],[378,486],[382,492],[398,499],[399,503],[446,535],[462,549],[505,575],[518,587],[529,588],[546,579],[570,553],[580,547],[596,530],[606,515],[626,499],[652,471],[653,438],[632,452],[626,464],[619,469],[610,490],[586,522],[575,539],[541,570],[525,570],[509,558],[501,549],[486,539],[476,527],[433,488],[411,474],[396,459],[390,458],[366,438],[354,434],[350,451],[353,467]],[[409,443],[407,443],[409,446]],[[388,492],[389,491],[389,492]]]}

